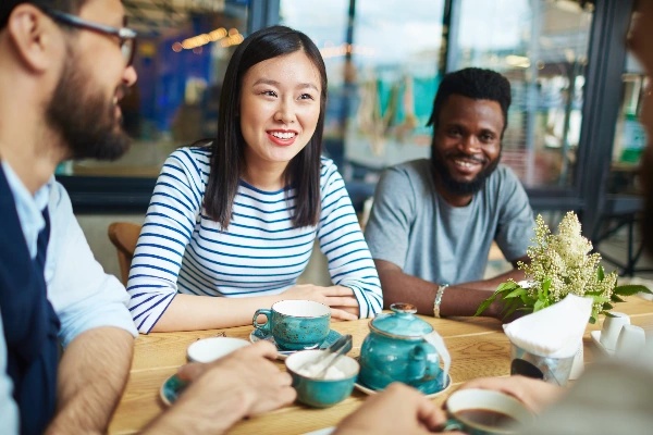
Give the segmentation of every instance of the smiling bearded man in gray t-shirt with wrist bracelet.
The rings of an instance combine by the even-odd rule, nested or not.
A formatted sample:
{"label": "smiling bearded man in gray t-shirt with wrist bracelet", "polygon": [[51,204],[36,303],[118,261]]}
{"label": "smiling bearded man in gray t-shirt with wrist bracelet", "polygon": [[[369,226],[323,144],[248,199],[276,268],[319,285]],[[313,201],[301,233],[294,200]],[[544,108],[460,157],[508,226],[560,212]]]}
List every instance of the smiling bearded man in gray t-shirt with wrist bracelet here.
{"label": "smiling bearded man in gray t-shirt with wrist bracelet", "polygon": [[[377,186],[365,236],[386,308],[409,302],[420,314],[473,315],[497,285],[523,279],[534,220],[515,176],[498,164],[510,107],[501,74],[447,74],[433,113],[431,160],[389,167]],[[482,281],[492,241],[515,270]],[[485,315],[502,318],[493,303]]]}

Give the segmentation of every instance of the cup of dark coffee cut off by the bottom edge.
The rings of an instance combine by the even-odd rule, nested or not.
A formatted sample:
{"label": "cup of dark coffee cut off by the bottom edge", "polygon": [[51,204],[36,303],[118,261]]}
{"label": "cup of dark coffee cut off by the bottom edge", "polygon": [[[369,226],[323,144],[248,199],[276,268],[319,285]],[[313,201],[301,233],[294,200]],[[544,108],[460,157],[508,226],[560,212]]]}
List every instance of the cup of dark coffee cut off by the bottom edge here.
{"label": "cup of dark coffee cut off by the bottom edge", "polygon": [[532,412],[519,400],[489,389],[459,389],[449,396],[445,407],[448,421],[442,432],[505,435],[533,421]]}

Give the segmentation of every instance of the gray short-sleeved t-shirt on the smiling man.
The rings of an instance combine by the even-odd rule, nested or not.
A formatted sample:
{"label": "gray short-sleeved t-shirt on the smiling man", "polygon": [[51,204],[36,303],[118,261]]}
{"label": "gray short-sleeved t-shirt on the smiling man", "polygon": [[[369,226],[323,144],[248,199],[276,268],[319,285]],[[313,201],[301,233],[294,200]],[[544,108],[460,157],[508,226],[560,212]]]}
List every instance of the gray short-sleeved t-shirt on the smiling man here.
{"label": "gray short-sleeved t-shirt on the smiling man", "polygon": [[385,170],[374,194],[365,237],[372,258],[432,283],[482,279],[492,240],[507,260],[526,256],[534,236],[523,187],[502,164],[466,207],[435,190],[430,160]]}

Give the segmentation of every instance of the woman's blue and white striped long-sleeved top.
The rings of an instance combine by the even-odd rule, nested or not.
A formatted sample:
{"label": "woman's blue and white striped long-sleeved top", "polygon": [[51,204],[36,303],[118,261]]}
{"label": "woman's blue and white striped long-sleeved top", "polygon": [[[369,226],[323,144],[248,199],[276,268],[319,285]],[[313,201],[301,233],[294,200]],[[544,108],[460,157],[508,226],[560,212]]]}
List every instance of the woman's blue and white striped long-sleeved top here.
{"label": "woman's blue and white striped long-sleeved top", "polygon": [[181,148],[157,181],[127,284],[141,333],[177,293],[237,298],[287,290],[306,269],[316,236],[333,284],[354,291],[360,318],[382,310],[379,275],[333,161],[322,158],[317,226],[293,227],[293,188],[262,191],[241,181],[233,219],[221,232],[202,208],[210,158],[208,148]]}

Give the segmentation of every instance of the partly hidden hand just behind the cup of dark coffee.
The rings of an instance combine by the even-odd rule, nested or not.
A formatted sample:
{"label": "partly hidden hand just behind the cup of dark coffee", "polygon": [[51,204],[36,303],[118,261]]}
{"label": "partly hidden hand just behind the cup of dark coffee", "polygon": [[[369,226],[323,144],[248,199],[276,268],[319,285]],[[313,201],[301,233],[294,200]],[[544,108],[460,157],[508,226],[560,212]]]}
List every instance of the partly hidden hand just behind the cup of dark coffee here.
{"label": "partly hidden hand just behind the cup of dark coffee", "polygon": [[505,393],[521,401],[535,413],[559,400],[565,393],[565,388],[525,376],[480,377],[469,381],[460,387],[460,389],[465,388],[493,389]]}

